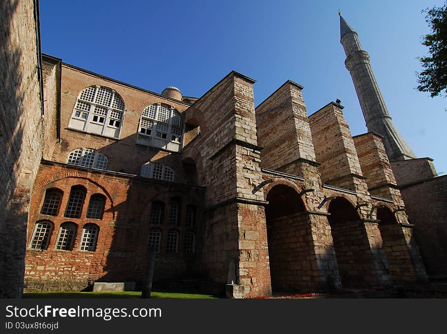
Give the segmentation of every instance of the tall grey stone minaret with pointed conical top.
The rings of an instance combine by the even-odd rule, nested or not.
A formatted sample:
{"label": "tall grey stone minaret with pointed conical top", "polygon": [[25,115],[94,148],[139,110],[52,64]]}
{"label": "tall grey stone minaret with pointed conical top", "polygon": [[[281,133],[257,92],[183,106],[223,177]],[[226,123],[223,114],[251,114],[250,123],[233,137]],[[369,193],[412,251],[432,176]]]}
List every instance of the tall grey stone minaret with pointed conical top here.
{"label": "tall grey stone minaret with pointed conical top", "polygon": [[390,161],[416,158],[388,114],[384,98],[372,73],[368,52],[362,50],[359,35],[341,17],[340,12],[338,15],[340,42],[346,53],[344,64],[353,78],[368,131],[384,136],[384,145]]}

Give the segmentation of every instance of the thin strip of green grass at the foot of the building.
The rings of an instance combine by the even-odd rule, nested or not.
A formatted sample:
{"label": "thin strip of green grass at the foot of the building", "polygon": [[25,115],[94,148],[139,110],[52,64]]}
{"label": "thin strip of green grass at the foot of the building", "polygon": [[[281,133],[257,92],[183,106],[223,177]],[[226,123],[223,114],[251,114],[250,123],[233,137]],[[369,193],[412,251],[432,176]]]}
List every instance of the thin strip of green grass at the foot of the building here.
{"label": "thin strip of green grass at the foot of the building", "polygon": [[[120,292],[25,292],[23,298],[141,298],[141,291]],[[151,299],[215,299],[210,294],[176,293],[176,292],[154,292],[150,294]]]}

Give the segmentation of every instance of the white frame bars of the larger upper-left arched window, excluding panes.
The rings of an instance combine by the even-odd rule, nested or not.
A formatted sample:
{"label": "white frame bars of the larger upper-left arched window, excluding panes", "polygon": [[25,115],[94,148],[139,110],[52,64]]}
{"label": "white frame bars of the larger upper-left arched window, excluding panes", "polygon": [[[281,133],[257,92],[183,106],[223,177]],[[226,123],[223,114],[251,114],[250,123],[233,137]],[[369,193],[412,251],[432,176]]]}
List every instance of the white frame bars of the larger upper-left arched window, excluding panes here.
{"label": "white frame bars of the larger upper-left arched window, excluding panes", "polygon": [[[91,97],[91,99],[84,98],[82,96],[84,91],[86,92],[91,89],[94,89],[93,94],[89,95]],[[101,90],[106,90],[107,93],[111,92],[109,103],[101,103],[104,100],[104,98],[102,99],[102,101],[98,101],[98,99],[100,99],[100,96],[98,93]],[[81,104],[84,107],[89,105],[88,110],[86,110],[82,107],[78,107],[78,104]],[[106,109],[105,115],[101,115],[101,114],[104,114],[103,110],[98,113],[98,111],[103,108]],[[79,113],[79,116],[76,115],[77,113]],[[116,117],[115,114],[121,115],[121,118]],[[119,136],[121,134],[122,123],[124,122],[124,114],[125,114],[124,99],[115,90],[113,90],[109,87],[105,87],[105,86],[90,86],[90,87],[83,89],[79,93],[78,98],[76,99],[75,106],[73,107],[73,113],[72,113],[70,120],[78,119],[83,122],[85,121],[84,128],[82,129],[82,131],[89,132],[92,134],[100,134],[100,135],[112,137],[112,138],[119,138]],[[103,122],[99,122],[98,120],[93,121],[94,117],[104,118],[104,120],[103,120]],[[120,122],[119,126],[110,125],[111,121],[114,124],[119,121]],[[89,128],[90,123],[102,125],[103,129],[102,129],[101,133],[92,132],[92,130],[89,131],[88,128]],[[81,130],[81,129],[78,129],[77,127],[71,126],[70,123],[69,123],[69,128],[75,129],[75,130]],[[118,129],[118,135],[115,135],[115,136],[107,135],[106,134],[107,128]]]}

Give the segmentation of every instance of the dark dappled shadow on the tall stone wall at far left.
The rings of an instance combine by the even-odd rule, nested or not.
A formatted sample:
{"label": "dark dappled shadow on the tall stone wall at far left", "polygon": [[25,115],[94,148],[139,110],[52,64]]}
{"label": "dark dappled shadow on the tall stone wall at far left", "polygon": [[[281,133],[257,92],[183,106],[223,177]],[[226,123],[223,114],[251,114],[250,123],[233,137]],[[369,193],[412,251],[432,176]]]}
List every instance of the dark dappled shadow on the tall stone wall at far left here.
{"label": "dark dappled shadow on the tall stone wall at far left", "polygon": [[[20,65],[22,51],[11,44],[10,30],[19,1],[0,2],[0,298],[20,298],[26,249],[26,222],[29,190],[19,180],[20,156],[26,119],[22,118],[27,100]],[[31,75],[34,73],[30,73]],[[40,109],[37,110],[40,113]]]}

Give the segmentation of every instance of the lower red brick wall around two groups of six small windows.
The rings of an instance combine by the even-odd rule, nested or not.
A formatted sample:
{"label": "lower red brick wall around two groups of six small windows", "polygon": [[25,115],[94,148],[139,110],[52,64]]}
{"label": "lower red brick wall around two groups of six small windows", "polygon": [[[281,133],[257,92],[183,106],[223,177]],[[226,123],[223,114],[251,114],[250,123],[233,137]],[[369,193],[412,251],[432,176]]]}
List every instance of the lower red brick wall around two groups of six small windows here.
{"label": "lower red brick wall around two groups of six small windows", "polygon": [[[65,217],[70,190],[73,186],[86,189],[86,197],[79,218]],[[62,191],[62,200],[56,215],[41,214],[47,189]],[[101,194],[106,198],[102,219],[86,218],[89,198]],[[178,225],[170,225],[169,205],[175,198],[179,202]],[[164,211],[161,224],[152,224],[151,209],[154,202],[162,202]],[[25,283],[28,291],[80,290],[94,281],[142,282],[147,265],[147,247],[150,229],[161,231],[161,247],[155,258],[154,282],[188,278],[200,271],[201,221],[203,190],[178,183],[156,181],[143,177],[121,176],[112,172],[91,171],[57,163],[41,165],[31,201],[28,226]],[[185,226],[185,209],[195,205],[196,224]],[[30,249],[35,223],[51,221],[53,230],[48,247]],[[77,226],[73,249],[55,249],[59,227],[71,221]],[[93,223],[99,226],[97,247],[94,251],[79,250],[82,228]],[[171,230],[178,233],[178,251],[167,251],[167,237]],[[186,254],[186,232],[196,235],[196,251]]]}

